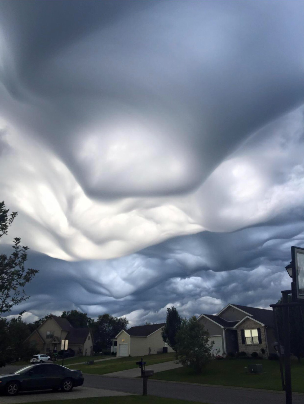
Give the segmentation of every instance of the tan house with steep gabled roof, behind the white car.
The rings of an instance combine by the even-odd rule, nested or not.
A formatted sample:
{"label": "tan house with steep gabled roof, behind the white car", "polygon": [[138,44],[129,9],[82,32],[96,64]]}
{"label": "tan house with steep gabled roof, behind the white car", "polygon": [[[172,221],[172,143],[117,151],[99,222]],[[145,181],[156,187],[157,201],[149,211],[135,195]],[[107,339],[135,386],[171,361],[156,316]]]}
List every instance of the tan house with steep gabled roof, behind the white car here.
{"label": "tan house with steep gabled roof, behind the white car", "polygon": [[68,347],[75,354],[92,355],[93,335],[90,328],[74,328],[66,318],[51,316],[33,331],[25,341],[36,345],[38,353],[48,353],[53,349],[60,351],[61,340],[69,341]]}

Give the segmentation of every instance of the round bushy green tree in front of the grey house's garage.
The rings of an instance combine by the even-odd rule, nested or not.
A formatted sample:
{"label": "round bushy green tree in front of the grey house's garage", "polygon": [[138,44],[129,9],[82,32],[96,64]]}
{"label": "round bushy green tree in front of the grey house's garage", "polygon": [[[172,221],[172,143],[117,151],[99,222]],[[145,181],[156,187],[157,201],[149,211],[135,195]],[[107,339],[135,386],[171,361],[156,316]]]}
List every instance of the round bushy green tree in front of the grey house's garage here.
{"label": "round bushy green tree in front of the grey house's garage", "polygon": [[213,342],[209,343],[209,337],[209,332],[198,322],[196,316],[189,320],[182,319],[181,328],[176,335],[179,362],[196,373],[202,372],[212,358]]}

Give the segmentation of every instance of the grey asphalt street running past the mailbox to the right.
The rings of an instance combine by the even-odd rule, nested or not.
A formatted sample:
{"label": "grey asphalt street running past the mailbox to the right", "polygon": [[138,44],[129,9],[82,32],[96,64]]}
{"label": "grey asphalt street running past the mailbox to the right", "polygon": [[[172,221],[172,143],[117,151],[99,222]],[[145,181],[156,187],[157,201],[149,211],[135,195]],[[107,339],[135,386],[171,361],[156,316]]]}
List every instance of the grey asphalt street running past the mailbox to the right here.
{"label": "grey asphalt street running past the mailbox to the right", "polygon": [[[100,375],[84,375],[85,387],[113,389],[133,394],[142,394],[142,379],[121,378]],[[238,389],[192,383],[176,383],[149,380],[148,394],[153,396],[176,398],[204,402],[208,404],[285,404],[285,393],[262,391],[257,389]],[[303,394],[293,394],[293,404],[303,404]]]}

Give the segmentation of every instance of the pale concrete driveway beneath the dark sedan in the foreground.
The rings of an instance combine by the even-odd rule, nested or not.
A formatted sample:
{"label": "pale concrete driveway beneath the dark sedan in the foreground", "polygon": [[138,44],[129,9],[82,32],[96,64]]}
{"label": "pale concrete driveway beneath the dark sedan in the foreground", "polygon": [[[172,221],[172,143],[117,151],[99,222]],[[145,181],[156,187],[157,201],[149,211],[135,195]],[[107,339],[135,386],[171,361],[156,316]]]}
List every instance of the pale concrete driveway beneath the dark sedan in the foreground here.
{"label": "pale concrete driveway beneath the dark sedan in the foreground", "polygon": [[129,393],[122,391],[96,389],[94,387],[75,387],[70,393],[54,391],[31,391],[19,393],[15,397],[0,396],[1,404],[32,403],[35,401],[59,401],[75,400],[76,398],[109,397],[109,396],[129,396]]}

